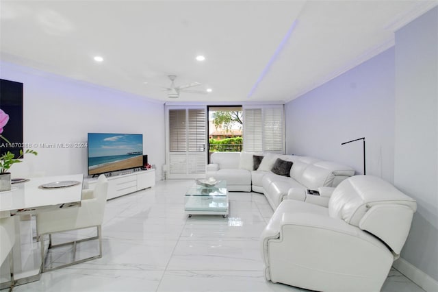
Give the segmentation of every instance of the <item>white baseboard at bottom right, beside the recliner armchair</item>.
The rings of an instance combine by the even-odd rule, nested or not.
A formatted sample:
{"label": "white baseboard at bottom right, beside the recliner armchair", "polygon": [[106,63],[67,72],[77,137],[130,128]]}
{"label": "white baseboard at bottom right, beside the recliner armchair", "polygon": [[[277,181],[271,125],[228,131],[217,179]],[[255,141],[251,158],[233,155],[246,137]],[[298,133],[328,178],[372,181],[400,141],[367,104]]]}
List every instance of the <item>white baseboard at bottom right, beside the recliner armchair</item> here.
{"label": "white baseboard at bottom right, beside the recliner armchair", "polygon": [[424,271],[418,269],[404,258],[398,258],[392,265],[412,282],[422,287],[426,292],[438,291],[438,282]]}

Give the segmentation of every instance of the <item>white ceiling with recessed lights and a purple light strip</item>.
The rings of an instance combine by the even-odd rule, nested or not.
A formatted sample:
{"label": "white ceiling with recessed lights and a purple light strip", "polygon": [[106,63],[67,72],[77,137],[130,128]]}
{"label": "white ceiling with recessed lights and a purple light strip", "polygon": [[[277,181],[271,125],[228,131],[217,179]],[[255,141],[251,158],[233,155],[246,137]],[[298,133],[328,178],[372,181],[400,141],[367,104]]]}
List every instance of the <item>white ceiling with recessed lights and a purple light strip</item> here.
{"label": "white ceiling with recessed lights and a purple light strip", "polygon": [[[437,1],[0,5],[2,61],[161,101],[231,103],[294,99],[394,45],[396,29]],[[213,92],[168,99],[156,85],[168,86],[170,74],[177,86]]]}

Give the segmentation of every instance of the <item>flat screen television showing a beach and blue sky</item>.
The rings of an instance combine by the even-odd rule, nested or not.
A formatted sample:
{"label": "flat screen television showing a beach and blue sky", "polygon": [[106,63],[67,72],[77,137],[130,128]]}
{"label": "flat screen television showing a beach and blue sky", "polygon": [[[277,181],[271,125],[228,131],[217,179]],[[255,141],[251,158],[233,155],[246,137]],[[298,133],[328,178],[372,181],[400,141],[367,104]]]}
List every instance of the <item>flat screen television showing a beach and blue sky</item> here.
{"label": "flat screen television showing a beach and blue sky", "polygon": [[88,175],[143,165],[143,134],[88,133]]}

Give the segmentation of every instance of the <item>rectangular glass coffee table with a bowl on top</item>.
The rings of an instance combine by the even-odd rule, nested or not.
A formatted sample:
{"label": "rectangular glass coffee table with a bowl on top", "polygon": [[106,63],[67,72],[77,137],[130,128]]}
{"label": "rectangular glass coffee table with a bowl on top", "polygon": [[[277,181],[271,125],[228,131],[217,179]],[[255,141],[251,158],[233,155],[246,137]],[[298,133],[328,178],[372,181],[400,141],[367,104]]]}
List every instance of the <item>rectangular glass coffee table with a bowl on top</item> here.
{"label": "rectangular glass coffee table with a bowl on top", "polygon": [[185,193],[185,214],[228,215],[227,181],[220,180],[214,186],[203,186],[196,182]]}

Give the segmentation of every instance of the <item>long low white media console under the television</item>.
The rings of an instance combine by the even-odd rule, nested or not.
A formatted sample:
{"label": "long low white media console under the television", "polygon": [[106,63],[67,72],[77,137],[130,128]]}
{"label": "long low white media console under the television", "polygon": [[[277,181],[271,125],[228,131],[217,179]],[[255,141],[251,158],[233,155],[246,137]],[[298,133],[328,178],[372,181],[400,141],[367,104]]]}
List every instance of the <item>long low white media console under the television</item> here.
{"label": "long low white media console under the television", "polygon": [[[155,169],[133,171],[130,173],[107,175],[108,195],[107,199],[114,199],[122,195],[127,195],[144,188],[155,186]],[[88,188],[94,188],[97,178],[89,179]]]}

